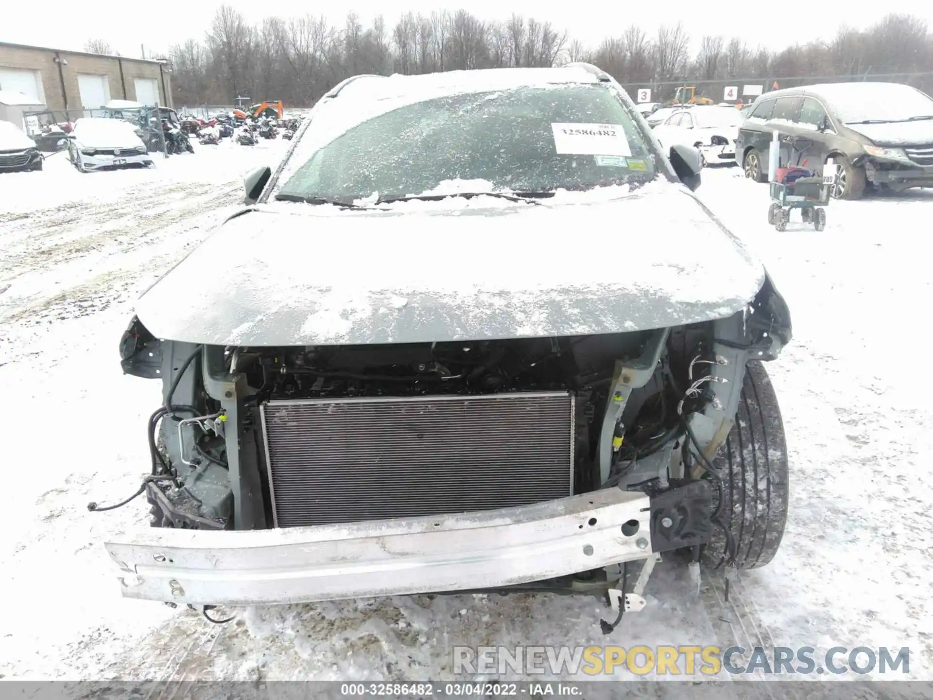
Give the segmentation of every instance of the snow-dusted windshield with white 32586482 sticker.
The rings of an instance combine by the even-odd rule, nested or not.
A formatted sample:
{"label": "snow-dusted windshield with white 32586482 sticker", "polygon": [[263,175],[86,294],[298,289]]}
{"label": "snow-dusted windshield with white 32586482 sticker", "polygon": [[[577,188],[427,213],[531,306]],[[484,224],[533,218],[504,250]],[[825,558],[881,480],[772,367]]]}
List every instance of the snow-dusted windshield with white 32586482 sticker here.
{"label": "snow-dusted windshield with white 32586482 sticker", "polygon": [[524,87],[439,97],[364,121],[318,148],[276,198],[541,193],[656,175],[615,91]]}

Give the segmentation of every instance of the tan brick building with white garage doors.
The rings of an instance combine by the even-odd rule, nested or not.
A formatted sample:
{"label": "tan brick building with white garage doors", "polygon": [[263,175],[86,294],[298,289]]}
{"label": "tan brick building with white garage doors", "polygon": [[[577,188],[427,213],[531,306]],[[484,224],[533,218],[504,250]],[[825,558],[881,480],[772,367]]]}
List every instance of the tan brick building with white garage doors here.
{"label": "tan brick building with white garage doors", "polygon": [[49,109],[97,109],[112,99],[172,106],[171,69],[164,61],[2,41],[0,91],[22,92]]}

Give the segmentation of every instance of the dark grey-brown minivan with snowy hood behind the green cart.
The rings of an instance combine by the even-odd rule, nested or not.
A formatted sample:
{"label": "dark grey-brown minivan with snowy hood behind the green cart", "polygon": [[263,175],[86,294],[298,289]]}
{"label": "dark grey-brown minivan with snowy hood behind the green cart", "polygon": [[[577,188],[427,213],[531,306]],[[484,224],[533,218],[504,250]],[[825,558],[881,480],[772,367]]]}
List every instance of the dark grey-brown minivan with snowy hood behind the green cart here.
{"label": "dark grey-brown minivan with snowy hood behind the green cart", "polygon": [[773,133],[781,162],[822,170],[836,163],[834,197],[856,200],[874,189],[933,187],[933,99],[898,83],[835,83],[759,97],[739,131],[745,176],[768,179]]}

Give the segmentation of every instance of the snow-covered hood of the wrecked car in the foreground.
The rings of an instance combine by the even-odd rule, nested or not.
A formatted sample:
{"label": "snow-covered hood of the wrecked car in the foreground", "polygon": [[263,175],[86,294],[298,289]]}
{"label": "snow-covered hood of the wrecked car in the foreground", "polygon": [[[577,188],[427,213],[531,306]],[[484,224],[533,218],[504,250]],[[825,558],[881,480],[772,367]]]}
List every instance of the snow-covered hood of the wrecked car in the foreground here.
{"label": "snow-covered hood of the wrecked car in the foreground", "polygon": [[278,203],[222,225],[137,315],[162,339],[298,345],[611,333],[745,308],[759,261],[686,189],[655,185],[542,205]]}

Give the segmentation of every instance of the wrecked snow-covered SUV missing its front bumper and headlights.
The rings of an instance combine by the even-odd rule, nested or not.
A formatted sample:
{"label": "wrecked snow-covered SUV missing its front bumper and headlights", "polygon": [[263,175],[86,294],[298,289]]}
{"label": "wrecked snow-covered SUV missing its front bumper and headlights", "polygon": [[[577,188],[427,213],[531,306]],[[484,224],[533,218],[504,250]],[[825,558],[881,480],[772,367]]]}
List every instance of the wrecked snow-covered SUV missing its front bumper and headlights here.
{"label": "wrecked snow-covered SUV missing its front bumper and headlights", "polygon": [[766,564],[787,450],[760,360],[790,319],[700,170],[591,65],[327,93],[122,338],[163,388],[154,527],[106,544],[123,594],[631,592],[660,552]]}

